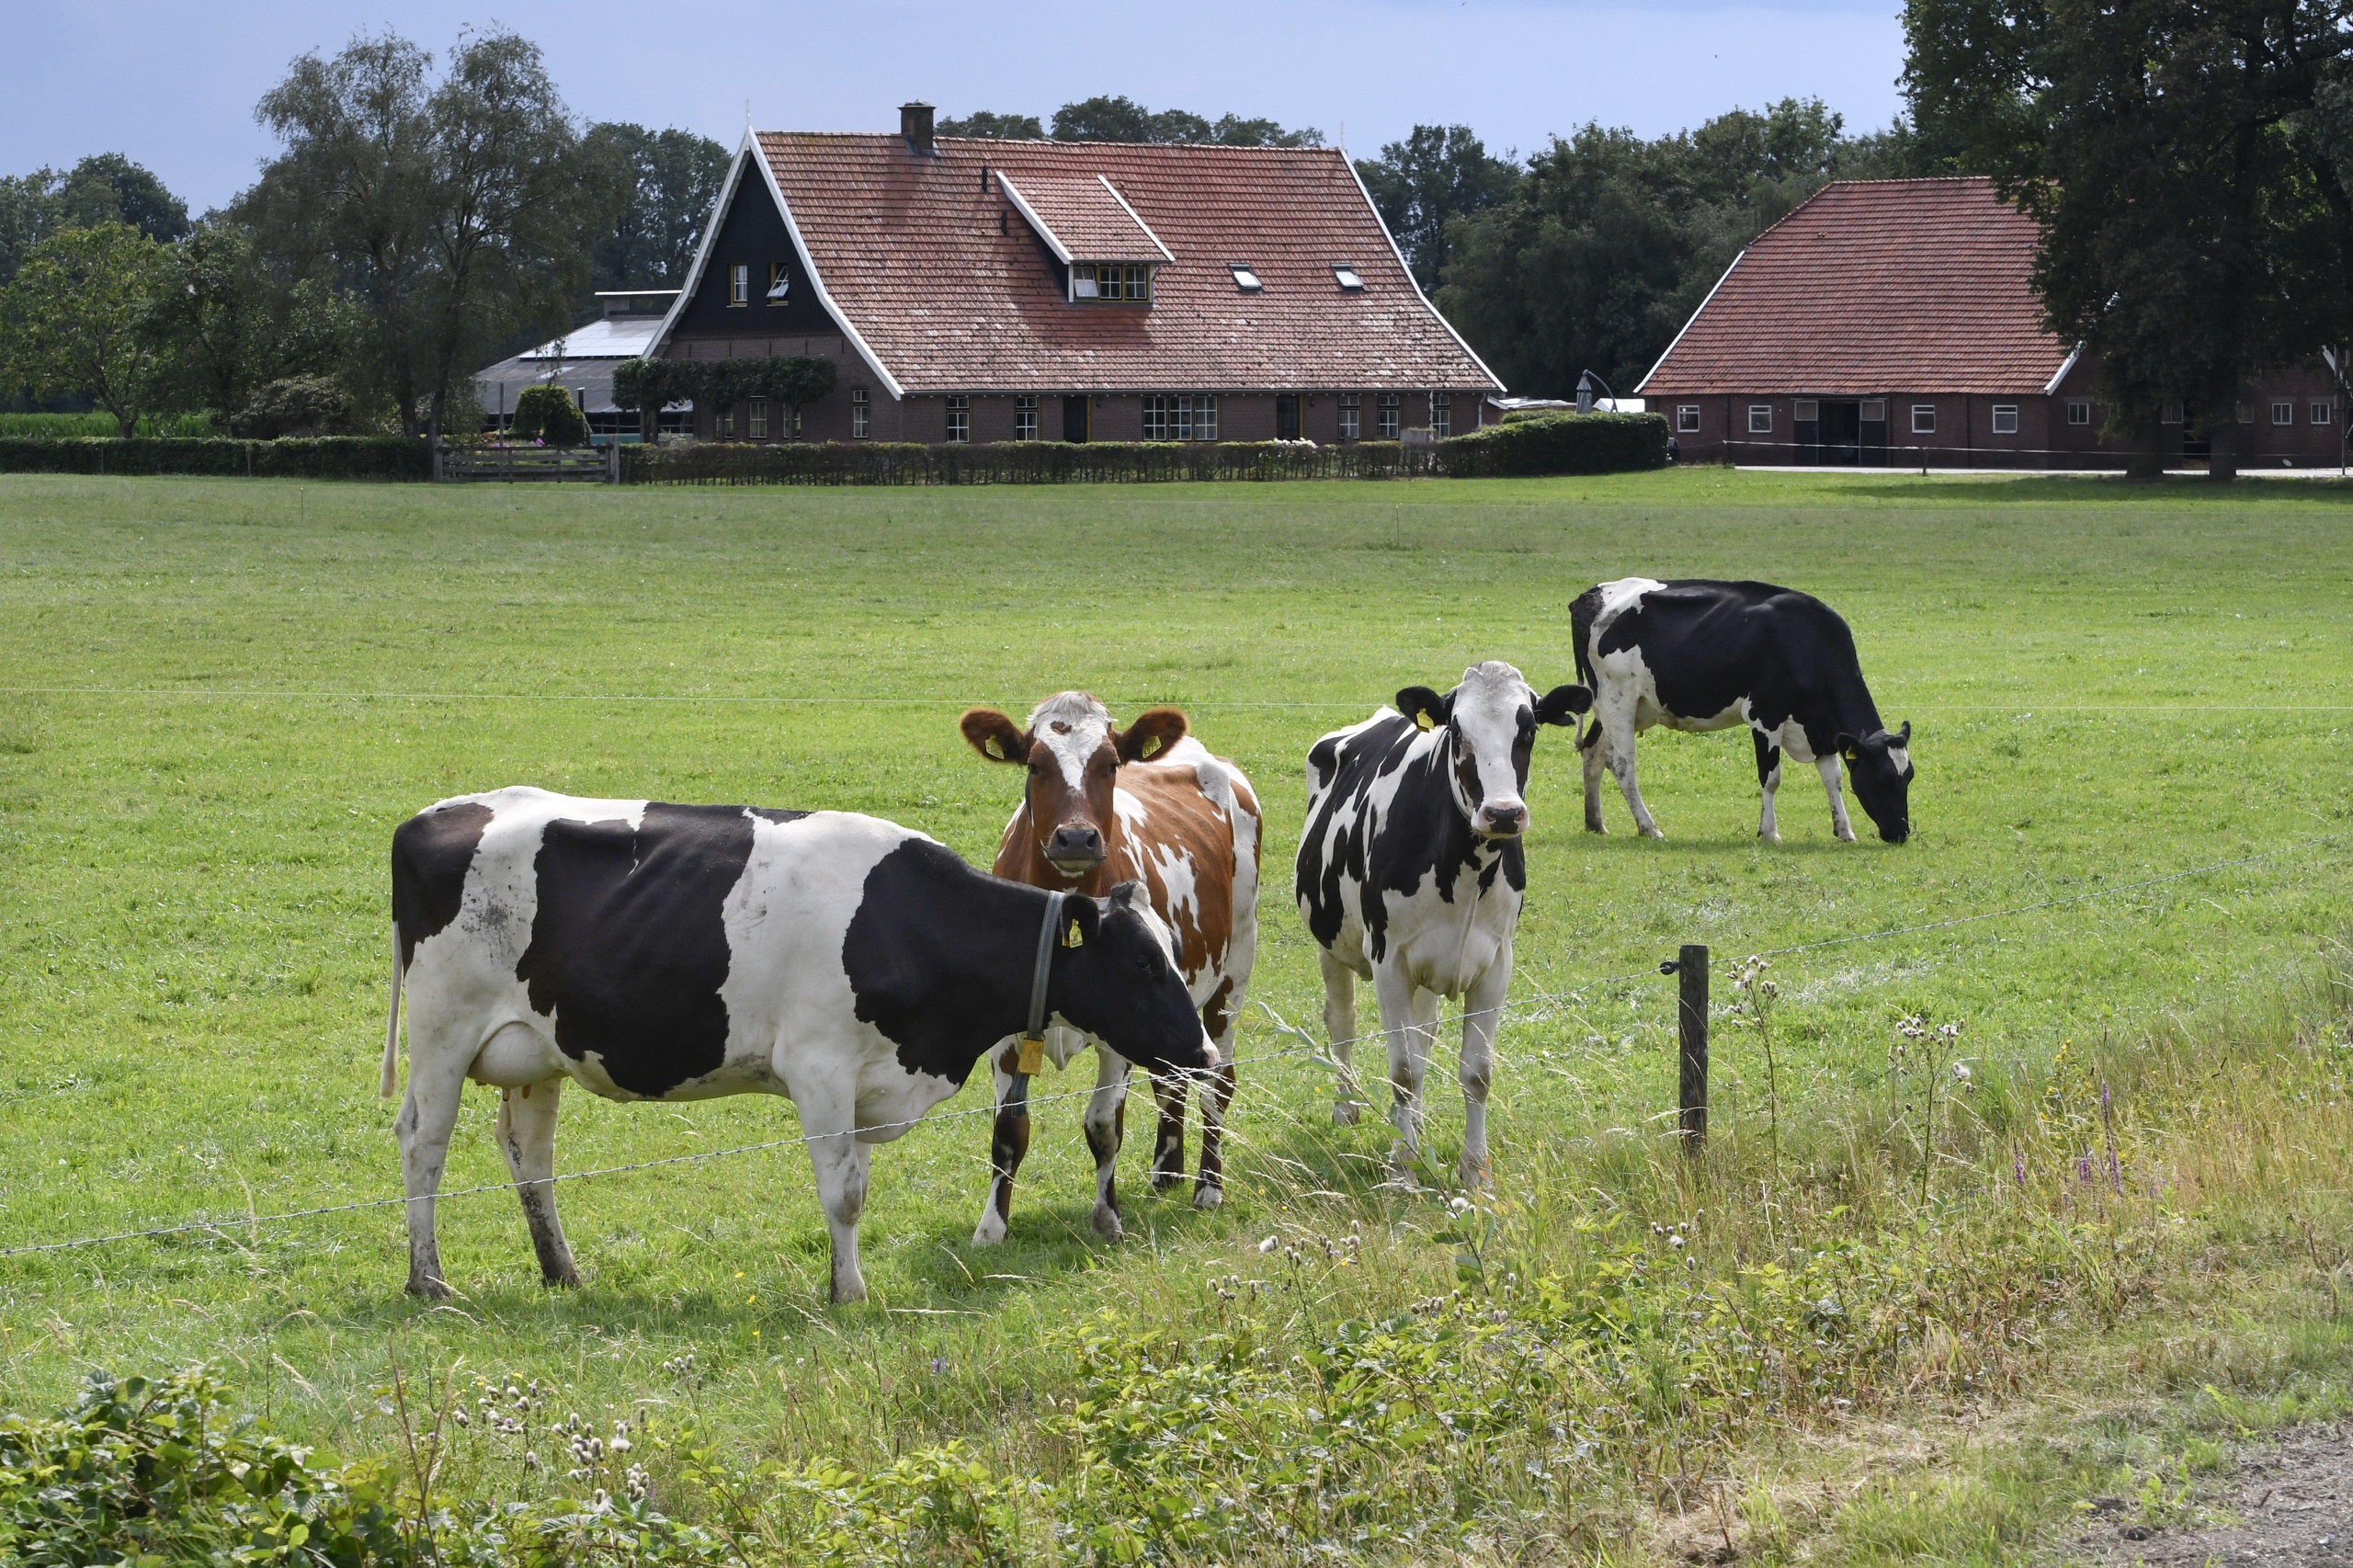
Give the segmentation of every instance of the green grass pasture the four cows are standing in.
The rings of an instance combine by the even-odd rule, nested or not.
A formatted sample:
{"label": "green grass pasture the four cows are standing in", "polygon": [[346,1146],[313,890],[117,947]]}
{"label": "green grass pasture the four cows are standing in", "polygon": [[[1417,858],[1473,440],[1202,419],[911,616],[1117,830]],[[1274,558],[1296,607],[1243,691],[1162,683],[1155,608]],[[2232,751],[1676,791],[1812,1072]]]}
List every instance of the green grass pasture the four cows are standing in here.
{"label": "green grass pasture the four cows are standing in", "polygon": [[[2318,1227],[2320,1269],[2353,1236],[2344,1069],[2311,1067],[2313,1029],[2341,1034],[2315,996],[2353,909],[2348,525],[2353,492],[2337,485],[1725,471],[936,492],[0,480],[0,1248],[219,1222],[0,1257],[0,1403],[56,1406],[94,1366],[214,1358],[280,1429],[381,1453],[391,1363],[464,1358],[461,1382],[541,1377],[579,1410],[649,1401],[746,1462],[875,1467],[965,1439],[995,1474],[1045,1474],[1068,1462],[1054,1422],[1080,1387],[1078,1323],[1134,1344],[1217,1335],[1221,1354],[1282,1351],[1457,1281],[1494,1288],[1480,1260],[1499,1236],[1574,1274],[1617,1245],[1591,1227],[1619,1210],[1682,1215],[1727,1278],[1774,1260],[1795,1271],[1807,1238],[1932,1227],[1908,1132],[1922,1076],[1915,1059],[1889,1076],[1904,1015],[1960,1024],[1953,1055],[1972,1076],[1932,1144],[1951,1203],[1998,1196],[2012,1163],[2019,1191],[2057,1194],[2106,1137],[2172,1172],[2134,1222],[2151,1236],[2209,1222],[2217,1238],[2271,1236],[2285,1220],[2259,1198],[2275,1191]],[[1071,685],[1122,716],[1174,702],[1266,803],[1254,989],[1313,1026],[1313,951],[1287,902],[1306,746],[1473,659],[1511,659],[1539,690],[1574,678],[1569,600],[1628,572],[1760,577],[1845,612],[1882,713],[1915,727],[1915,831],[1904,848],[1868,831],[1838,845],[1819,791],[1791,782],[1786,843],[1762,848],[1746,742],[1654,735],[1642,784],[1668,838],[1638,841],[1614,789],[1612,833],[1593,838],[1569,744],[1544,739],[1515,979],[1527,1005],[1499,1038],[1501,1196],[1473,1210],[1489,1212],[1487,1241],[1445,1191],[1377,1189],[1386,1125],[1334,1132],[1313,1059],[1254,1071],[1254,1052],[1294,1043],[1257,1012],[1221,1212],[1148,1196],[1136,1137],[1129,1243],[1092,1243],[1075,1104],[1047,1104],[1012,1238],[974,1253],[986,1123],[918,1128],[875,1156],[864,1309],[821,1307],[826,1231],[791,1147],[567,1184],[586,1285],[560,1295],[539,1288],[506,1194],[442,1203],[454,1309],[400,1295],[395,1208],[245,1224],[398,1191],[395,1107],[374,1097],[386,841],[440,796],[532,782],[849,808],[986,864],[1012,784],[958,737],[967,704],[1019,713]],[[2257,855],[1774,958],[1779,1147],[1758,1031],[1727,1012],[1711,1168],[1666,1154],[1673,982],[1624,977],[1680,942],[1711,944],[1718,1001],[1734,1003],[1725,970],[1744,954]],[[2301,1052],[2301,1076],[2266,1067],[2280,1052]],[[2301,1123],[2287,1102],[2240,1107],[2285,1140],[2275,1163],[2207,1172],[2240,1229],[2191,1201],[2195,1161],[2165,1142],[2169,1125],[2214,1140],[2198,1121],[2214,1092],[2195,1085],[2221,1081],[2217,1062],[2245,1069],[2247,1095],[2306,1095]],[[2115,1111],[2106,1132],[2085,1121],[2097,1078],[2129,1095],[2144,1076],[2148,1111],[2127,1111],[2122,1135]],[[1433,1088],[1445,1161],[1461,1097],[1447,1071]],[[979,1107],[967,1092],[944,1109]],[[492,1111],[475,1090],[452,1187],[504,1180]],[[558,1161],[621,1165],[791,1128],[781,1099],[572,1095]],[[1701,1222],[1692,1210],[1711,1203],[1718,1220]],[[1365,1257],[1282,1293],[1266,1236]],[[2104,1321],[2127,1318],[2115,1295]],[[2289,1361],[2341,1387],[2353,1349],[2339,1328],[2315,1335]],[[2005,1387],[2028,1389],[2033,1356],[2059,1354],[2019,1351]],[[2247,1398],[2271,1398],[2287,1373],[2249,1377]],[[1762,1474],[1758,1455],[1777,1450],[1758,1443],[1720,1455],[1718,1474]],[[471,1464],[454,1474],[475,1490],[536,1486],[487,1450]],[[1649,1537],[1609,1507],[1697,1507],[1678,1486],[1621,1474],[1546,1493],[1539,1533],[1562,1556],[1640,1556]],[[1988,1497],[2002,1486],[1984,1481]],[[1605,1493],[1617,1502],[1591,1502]],[[1732,1497],[1748,1540],[1779,1540],[1758,1523],[1769,1488],[1755,1507]],[[1889,1519],[1904,1507],[1967,1514],[1915,1500]],[[2017,1530],[2040,1528],[2019,1507]],[[1871,1519],[1824,1514],[1824,1540],[1913,1556],[1873,1544]],[[1899,1523],[1885,1540],[1906,1540]],[[1492,1521],[1457,1526],[1501,1552]],[[1374,1533],[1362,1552],[1424,1556],[1438,1540]]]}

